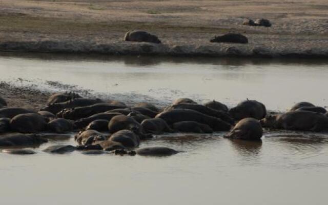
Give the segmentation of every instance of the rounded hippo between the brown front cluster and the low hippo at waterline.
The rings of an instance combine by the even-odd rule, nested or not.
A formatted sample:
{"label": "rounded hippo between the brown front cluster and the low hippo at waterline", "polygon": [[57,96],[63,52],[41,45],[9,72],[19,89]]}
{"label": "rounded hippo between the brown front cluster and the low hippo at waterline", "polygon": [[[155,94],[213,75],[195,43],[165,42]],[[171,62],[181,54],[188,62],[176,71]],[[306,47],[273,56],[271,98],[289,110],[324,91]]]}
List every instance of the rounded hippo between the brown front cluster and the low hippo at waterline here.
{"label": "rounded hippo between the brown front cluster and the low hippo at waterline", "polygon": [[162,132],[173,132],[166,121],[161,118],[145,119],[141,122],[141,127],[146,133],[160,134]]}

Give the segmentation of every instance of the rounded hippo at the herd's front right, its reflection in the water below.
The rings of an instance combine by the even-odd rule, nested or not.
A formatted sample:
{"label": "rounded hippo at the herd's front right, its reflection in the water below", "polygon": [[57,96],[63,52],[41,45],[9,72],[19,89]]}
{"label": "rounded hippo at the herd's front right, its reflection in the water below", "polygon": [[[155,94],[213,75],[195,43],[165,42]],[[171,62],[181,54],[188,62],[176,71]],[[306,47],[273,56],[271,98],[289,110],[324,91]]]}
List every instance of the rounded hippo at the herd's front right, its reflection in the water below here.
{"label": "rounded hippo at the herd's front right, its reflection in the water below", "polygon": [[232,139],[260,140],[263,135],[263,129],[257,119],[248,117],[243,118],[225,137]]}

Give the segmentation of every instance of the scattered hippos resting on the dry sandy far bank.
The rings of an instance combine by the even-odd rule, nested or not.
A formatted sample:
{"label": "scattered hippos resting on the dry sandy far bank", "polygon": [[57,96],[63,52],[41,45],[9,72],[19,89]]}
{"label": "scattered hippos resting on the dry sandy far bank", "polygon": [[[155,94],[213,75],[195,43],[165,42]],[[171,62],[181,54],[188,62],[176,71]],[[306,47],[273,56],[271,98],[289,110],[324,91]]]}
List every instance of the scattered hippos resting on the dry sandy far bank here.
{"label": "scattered hippos resting on the dry sandy far bank", "polygon": [[[245,19],[242,25],[247,26],[261,26],[261,27],[271,27],[271,23],[268,19],[259,18],[255,21],[252,19]],[[151,33],[146,31],[128,31],[124,40],[127,42],[149,42],[154,44],[161,44],[161,40]],[[239,43],[248,44],[248,38],[240,33],[226,33],[221,36],[215,36],[210,39],[211,43]]]}

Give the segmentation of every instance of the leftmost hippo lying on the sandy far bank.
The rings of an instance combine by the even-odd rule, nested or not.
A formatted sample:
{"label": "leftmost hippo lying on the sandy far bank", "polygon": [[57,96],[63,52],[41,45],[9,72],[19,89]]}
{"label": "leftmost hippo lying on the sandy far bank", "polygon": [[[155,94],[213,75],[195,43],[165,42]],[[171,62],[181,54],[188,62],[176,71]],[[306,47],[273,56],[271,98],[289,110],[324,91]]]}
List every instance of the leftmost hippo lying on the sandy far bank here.
{"label": "leftmost hippo lying on the sandy far bank", "polygon": [[128,31],[124,40],[126,42],[149,42],[154,44],[161,44],[157,36],[150,34],[146,31]]}

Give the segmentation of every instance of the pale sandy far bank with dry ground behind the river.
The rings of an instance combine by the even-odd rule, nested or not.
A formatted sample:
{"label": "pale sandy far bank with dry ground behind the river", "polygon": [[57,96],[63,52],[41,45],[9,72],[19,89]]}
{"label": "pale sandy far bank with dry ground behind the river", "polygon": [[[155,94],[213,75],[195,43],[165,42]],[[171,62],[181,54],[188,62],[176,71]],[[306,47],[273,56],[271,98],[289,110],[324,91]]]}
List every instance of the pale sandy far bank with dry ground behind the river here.
{"label": "pale sandy far bank with dry ground behind the river", "polygon": [[[241,25],[245,18],[261,17],[270,19],[273,26]],[[122,42],[125,32],[134,29],[156,34],[163,45]],[[230,31],[246,35],[250,43],[209,43],[213,36]],[[49,42],[43,45],[4,44],[30,41]],[[0,49],[109,54],[328,56],[328,3],[326,0],[0,0]]]}

